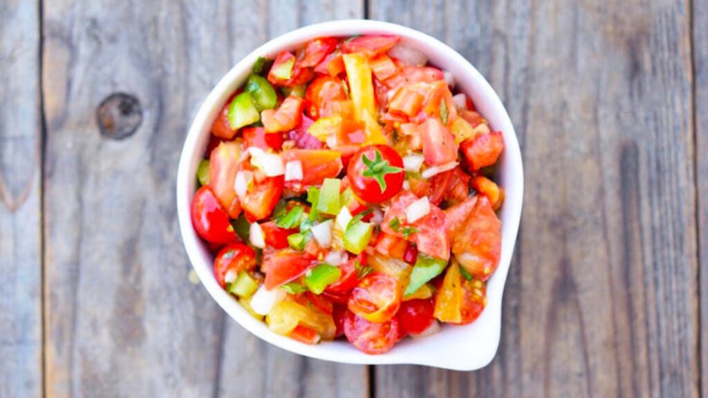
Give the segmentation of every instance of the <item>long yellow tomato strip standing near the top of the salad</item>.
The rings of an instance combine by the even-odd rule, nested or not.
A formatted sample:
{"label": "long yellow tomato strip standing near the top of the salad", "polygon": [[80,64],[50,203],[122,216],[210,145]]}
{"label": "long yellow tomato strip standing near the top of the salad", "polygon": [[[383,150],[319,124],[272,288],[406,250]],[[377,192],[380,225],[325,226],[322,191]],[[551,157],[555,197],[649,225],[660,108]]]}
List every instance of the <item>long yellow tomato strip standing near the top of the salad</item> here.
{"label": "long yellow tomato strip standing near the top of the salad", "polygon": [[366,127],[367,144],[386,144],[387,140],[377,123],[374,84],[371,79],[371,67],[367,58],[359,52],[342,56],[344,69],[349,81],[349,93],[354,103],[357,121]]}

